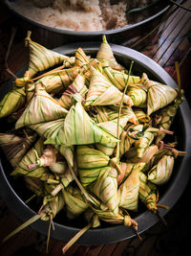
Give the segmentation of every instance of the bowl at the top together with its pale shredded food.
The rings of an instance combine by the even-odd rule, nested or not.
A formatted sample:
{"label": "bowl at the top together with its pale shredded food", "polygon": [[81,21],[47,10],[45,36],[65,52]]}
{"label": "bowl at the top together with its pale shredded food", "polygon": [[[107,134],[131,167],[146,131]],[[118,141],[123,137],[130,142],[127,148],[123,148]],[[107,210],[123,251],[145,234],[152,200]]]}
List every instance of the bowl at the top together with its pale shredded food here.
{"label": "bowl at the top together with its pale shredded food", "polygon": [[[56,47],[70,41],[82,41],[81,36],[97,40],[98,35],[110,35],[112,42],[123,43],[138,35],[149,33],[161,21],[161,15],[169,8],[169,2],[163,0],[5,0],[9,9],[41,29],[45,39],[47,31],[53,35],[46,38],[56,43]],[[157,20],[158,19],[158,20]],[[156,21],[157,20],[157,21]],[[146,27],[149,23],[150,27]],[[23,25],[23,24],[22,24]],[[42,30],[46,31],[42,33]],[[128,33],[127,33],[128,32]],[[122,34],[123,33],[123,34]],[[65,39],[63,40],[63,35]],[[73,37],[70,37],[72,36]],[[74,38],[77,35],[77,38]],[[95,36],[95,38],[93,38]],[[70,38],[69,38],[70,37]],[[110,38],[109,38],[110,39]],[[130,46],[130,45],[127,45]]]}

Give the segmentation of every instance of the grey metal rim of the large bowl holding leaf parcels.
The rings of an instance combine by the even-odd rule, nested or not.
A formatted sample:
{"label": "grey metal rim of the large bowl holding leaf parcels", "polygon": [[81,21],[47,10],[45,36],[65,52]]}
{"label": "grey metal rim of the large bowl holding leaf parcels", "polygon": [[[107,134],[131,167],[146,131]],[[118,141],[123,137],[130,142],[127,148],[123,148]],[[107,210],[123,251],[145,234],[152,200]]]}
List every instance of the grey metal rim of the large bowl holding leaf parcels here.
{"label": "grey metal rim of the large bowl holding leaf parcels", "polygon": [[[170,75],[159,66],[157,62],[153,59],[144,56],[143,54],[117,44],[110,44],[115,55],[123,56],[128,59],[132,59],[138,64],[143,64],[144,67],[150,72],[154,73],[154,76],[159,78],[159,81],[168,83],[173,87],[177,87],[177,83],[170,77]],[[53,50],[62,53],[64,55],[69,55],[74,53],[78,47],[81,47],[85,52],[86,51],[97,51],[99,48],[98,42],[77,42],[70,45],[64,45],[61,47],[54,48]],[[170,208],[168,210],[159,209],[161,216],[165,216],[169,210],[175,205],[175,203],[180,198],[183,190],[185,189],[190,172],[189,165],[191,164],[191,120],[188,118],[190,115],[190,107],[186,100],[180,105],[180,113],[182,117],[182,123],[184,127],[184,137],[185,145],[184,151],[186,155],[183,157],[180,165],[179,174],[176,175],[174,182],[171,187],[169,187],[165,194],[159,198],[160,204],[167,204]],[[176,199],[172,200],[170,198],[175,197]],[[22,219],[22,221],[27,221],[32,218],[36,213],[28,206],[26,203],[17,196],[14,190],[11,187],[11,184],[4,173],[4,169],[1,163],[0,158],[0,196],[7,203],[11,211]],[[142,233],[146,229],[150,228],[156,224],[159,220],[148,210],[138,215],[135,218],[135,221],[138,222],[138,234]],[[62,242],[68,242],[80,229],[71,226],[61,225],[54,222],[55,230],[52,232],[52,238],[56,240],[61,240]],[[44,235],[47,235],[49,223],[48,221],[36,221],[32,223],[32,228]],[[83,245],[98,245],[98,244],[111,244],[130,239],[135,236],[134,231],[131,228],[125,227],[122,224],[112,225],[107,228],[98,227],[96,229],[88,230],[77,242],[76,244]]]}

